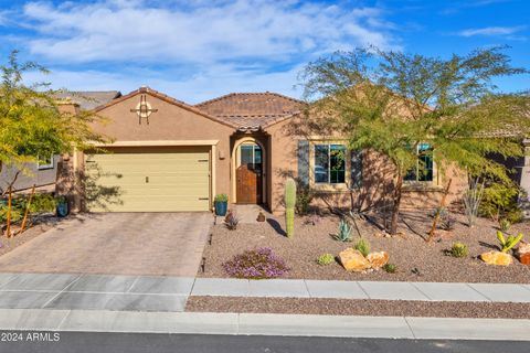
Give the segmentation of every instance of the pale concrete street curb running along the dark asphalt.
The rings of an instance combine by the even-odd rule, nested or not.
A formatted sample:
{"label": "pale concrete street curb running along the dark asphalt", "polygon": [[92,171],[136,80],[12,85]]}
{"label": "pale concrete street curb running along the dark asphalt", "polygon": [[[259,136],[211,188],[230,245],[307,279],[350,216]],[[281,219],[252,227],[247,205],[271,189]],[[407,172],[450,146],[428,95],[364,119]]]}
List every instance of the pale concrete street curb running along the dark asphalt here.
{"label": "pale concrete street curb running along the dark asphalt", "polygon": [[0,330],[530,341],[530,320],[0,309]]}

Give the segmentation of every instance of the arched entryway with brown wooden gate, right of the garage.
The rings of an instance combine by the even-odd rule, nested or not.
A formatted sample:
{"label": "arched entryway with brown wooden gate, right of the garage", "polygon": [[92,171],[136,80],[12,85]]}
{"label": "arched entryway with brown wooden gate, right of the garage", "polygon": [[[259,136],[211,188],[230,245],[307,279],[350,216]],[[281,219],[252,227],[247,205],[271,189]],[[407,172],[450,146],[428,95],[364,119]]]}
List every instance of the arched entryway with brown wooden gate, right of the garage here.
{"label": "arched entryway with brown wooden gate, right of the garage", "polygon": [[266,151],[252,137],[236,141],[232,153],[233,200],[239,204],[263,204],[266,185]]}

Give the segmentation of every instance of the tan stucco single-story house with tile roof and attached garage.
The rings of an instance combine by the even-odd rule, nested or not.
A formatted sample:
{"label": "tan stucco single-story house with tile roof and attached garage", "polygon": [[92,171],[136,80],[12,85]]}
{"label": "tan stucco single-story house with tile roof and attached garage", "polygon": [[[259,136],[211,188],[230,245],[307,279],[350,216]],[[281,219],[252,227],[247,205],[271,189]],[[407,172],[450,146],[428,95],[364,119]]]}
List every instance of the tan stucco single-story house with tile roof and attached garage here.
{"label": "tan stucco single-story house with tile roof and attached garage", "polygon": [[[94,129],[113,142],[66,156],[57,188],[92,212],[210,211],[225,193],[231,203],[280,213],[287,176],[316,192],[316,205],[384,203],[393,174],[381,157],[348,151],[338,137],[298,135],[293,127],[303,109],[303,101],[268,92],[193,106],[148,87],[117,95],[93,107],[107,118]],[[449,201],[467,183],[456,171],[442,175],[422,153],[428,148],[418,147],[428,172],[407,175],[404,207],[436,206],[447,173],[454,174]]]}

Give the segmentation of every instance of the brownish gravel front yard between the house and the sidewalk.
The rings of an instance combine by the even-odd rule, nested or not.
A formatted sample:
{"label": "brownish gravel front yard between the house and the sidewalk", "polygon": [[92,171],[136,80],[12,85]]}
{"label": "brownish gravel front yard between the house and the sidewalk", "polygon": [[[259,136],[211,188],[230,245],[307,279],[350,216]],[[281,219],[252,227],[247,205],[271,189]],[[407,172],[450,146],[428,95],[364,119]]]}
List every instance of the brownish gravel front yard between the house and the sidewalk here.
{"label": "brownish gravel front yard between the house and the sidewalk", "polygon": [[[479,218],[477,225],[469,228],[463,214],[455,214],[456,224],[452,232],[438,231],[437,240],[426,243],[423,237],[432,224],[432,218],[422,213],[404,213],[400,224],[403,236],[383,237],[373,223],[358,221],[361,235],[375,252],[390,254],[390,263],[398,265],[395,274],[384,270],[369,272],[347,272],[342,266],[333,263],[321,266],[316,263],[319,255],[330,253],[337,256],[341,250],[352,247],[359,238],[353,231],[353,242],[342,243],[333,238],[339,218],[327,215],[316,225],[307,224],[307,217],[295,221],[295,237],[285,237],[283,217],[268,218],[265,223],[240,224],[236,231],[229,231],[222,224],[212,229],[212,244],[206,245],[204,272],[200,277],[229,277],[222,264],[246,249],[271,247],[286,260],[290,270],[284,278],[342,279],[342,280],[392,280],[392,281],[442,281],[442,282],[530,282],[530,266],[521,265],[517,259],[508,267],[490,266],[477,256],[484,252],[497,249],[497,224]],[[530,242],[530,222],[516,224],[510,233],[522,232]],[[446,256],[454,242],[463,242],[469,247],[469,256],[454,258]]]}

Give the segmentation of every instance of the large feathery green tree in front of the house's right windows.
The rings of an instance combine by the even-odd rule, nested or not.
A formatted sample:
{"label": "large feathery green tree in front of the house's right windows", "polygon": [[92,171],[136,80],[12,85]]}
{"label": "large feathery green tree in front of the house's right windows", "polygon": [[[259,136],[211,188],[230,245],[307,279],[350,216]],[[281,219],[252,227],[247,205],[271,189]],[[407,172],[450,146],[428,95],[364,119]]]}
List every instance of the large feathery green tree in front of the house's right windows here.
{"label": "large feathery green tree in front of the house's right windows", "polygon": [[338,52],[300,75],[310,101],[304,124],[386,158],[395,171],[390,232],[396,233],[404,179],[428,173],[425,161],[441,171],[456,164],[470,175],[508,180],[488,154],[523,154],[529,98],[499,93],[494,79],[523,73],[504,47],[447,60],[378,49]]}

